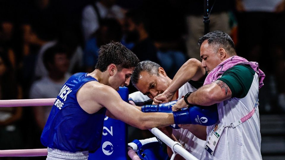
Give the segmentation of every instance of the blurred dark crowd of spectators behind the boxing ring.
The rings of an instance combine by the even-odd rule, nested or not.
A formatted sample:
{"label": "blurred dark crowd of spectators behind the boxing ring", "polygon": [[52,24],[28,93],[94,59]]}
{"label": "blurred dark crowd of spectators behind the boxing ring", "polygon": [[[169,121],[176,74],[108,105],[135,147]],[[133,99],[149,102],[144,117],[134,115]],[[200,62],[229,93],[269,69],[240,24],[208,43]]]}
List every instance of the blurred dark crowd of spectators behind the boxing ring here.
{"label": "blurred dark crowd of spectators behind the boxing ring", "polygon": [[[284,8],[285,0],[209,0],[210,31],[230,34],[238,55],[267,75],[261,113],[285,111]],[[1,100],[55,98],[73,73],[94,70],[110,41],[170,78],[189,58],[200,60],[202,0],[0,0],[0,12]],[[0,150],[43,148],[50,109],[0,108]]]}

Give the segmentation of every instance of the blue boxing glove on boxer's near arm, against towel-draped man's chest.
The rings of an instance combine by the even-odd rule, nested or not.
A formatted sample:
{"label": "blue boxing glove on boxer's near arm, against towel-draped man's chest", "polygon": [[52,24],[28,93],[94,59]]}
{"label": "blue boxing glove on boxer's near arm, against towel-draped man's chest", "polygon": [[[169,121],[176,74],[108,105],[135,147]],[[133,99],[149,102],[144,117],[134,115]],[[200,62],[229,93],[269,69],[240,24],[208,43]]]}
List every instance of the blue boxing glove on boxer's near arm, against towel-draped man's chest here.
{"label": "blue boxing glove on boxer's near arm, against towel-draped man's chest", "polygon": [[211,126],[219,120],[217,105],[190,106],[186,110],[173,112],[175,124],[200,124]]}

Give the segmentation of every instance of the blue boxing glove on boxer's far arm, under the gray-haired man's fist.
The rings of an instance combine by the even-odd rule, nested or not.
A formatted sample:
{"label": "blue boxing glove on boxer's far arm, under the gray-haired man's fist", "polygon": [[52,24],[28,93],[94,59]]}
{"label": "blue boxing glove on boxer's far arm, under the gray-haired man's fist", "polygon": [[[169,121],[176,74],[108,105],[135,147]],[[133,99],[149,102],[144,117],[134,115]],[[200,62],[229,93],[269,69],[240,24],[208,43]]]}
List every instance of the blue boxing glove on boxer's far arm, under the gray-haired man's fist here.
{"label": "blue boxing glove on boxer's far arm, under the gray-haired man's fist", "polygon": [[142,112],[164,112],[164,113],[172,113],[172,106],[177,103],[177,100],[161,103],[158,105],[143,105]]}

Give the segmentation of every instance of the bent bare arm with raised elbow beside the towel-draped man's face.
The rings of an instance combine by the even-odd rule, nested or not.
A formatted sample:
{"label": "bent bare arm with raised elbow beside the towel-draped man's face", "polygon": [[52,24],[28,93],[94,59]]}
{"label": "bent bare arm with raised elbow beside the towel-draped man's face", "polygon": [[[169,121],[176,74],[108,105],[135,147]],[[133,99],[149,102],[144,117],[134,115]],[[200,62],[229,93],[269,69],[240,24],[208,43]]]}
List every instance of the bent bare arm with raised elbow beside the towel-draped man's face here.
{"label": "bent bare arm with raised elbow beside the towel-draped man's face", "polygon": [[198,81],[205,75],[205,69],[202,68],[202,63],[191,58],[184,63],[175,74],[169,87],[160,95],[154,97],[154,103],[167,103],[169,102],[175,92],[189,80]]}

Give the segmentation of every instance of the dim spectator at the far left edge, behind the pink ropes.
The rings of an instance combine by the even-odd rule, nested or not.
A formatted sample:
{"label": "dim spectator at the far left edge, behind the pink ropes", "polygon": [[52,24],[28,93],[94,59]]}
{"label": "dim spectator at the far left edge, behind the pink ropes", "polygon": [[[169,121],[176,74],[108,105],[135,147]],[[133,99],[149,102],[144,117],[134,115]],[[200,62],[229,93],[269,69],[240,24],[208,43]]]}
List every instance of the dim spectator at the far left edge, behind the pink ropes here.
{"label": "dim spectator at the far left edge, behind the pink ropes", "polygon": [[[0,52],[0,100],[22,99],[21,88],[8,58]],[[0,107],[0,150],[23,147],[19,120],[22,107]],[[2,158],[1,158],[2,159]]]}

